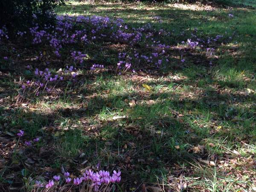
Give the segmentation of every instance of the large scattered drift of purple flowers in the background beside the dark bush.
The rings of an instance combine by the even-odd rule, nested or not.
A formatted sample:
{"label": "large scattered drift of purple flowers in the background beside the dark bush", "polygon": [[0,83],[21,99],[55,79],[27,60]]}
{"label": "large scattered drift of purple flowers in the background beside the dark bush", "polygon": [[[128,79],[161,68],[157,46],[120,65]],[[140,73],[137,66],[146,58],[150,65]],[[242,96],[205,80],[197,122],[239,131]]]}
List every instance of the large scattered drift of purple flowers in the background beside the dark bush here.
{"label": "large scattered drift of purple flowers in the background beside the dark bush", "polygon": [[[154,16],[153,19],[160,21],[161,17]],[[50,51],[48,52],[47,50],[47,56],[45,56],[45,52],[40,52],[40,54],[36,56],[37,61],[44,61],[47,65],[51,53],[53,57],[57,57],[58,60],[62,57],[61,59],[65,59],[65,61],[70,64],[72,63],[74,66],[76,64],[82,64],[84,58],[90,57],[84,53],[86,52],[87,47],[93,47],[96,43],[101,42],[133,46],[131,52],[134,53],[125,50],[125,52],[120,52],[118,54],[119,60],[117,62],[116,70],[118,74],[134,71],[131,67],[141,68],[143,65],[151,65],[150,67],[159,68],[169,63],[169,51],[171,47],[163,44],[161,38],[166,38],[172,33],[166,32],[164,29],[157,30],[152,27],[150,23],[147,23],[142,27],[131,28],[125,25],[124,20],[120,18],[111,19],[109,17],[87,17],[84,15],[79,15],[77,17],[60,15],[56,17],[56,20],[56,25],[49,24],[39,27],[38,24],[35,24],[33,27],[29,28],[29,32],[27,32],[27,35],[32,36],[32,38],[29,38],[32,39],[32,44],[41,44],[48,48],[50,47]],[[216,35],[214,37],[203,39],[200,38],[201,36],[197,33],[198,29],[195,28],[192,30],[191,38],[187,39],[186,45],[191,49],[198,47],[198,50],[200,50],[204,46],[214,47],[214,45],[223,37],[223,35]],[[17,35],[20,37],[24,34],[26,34],[26,32],[17,32]],[[181,35],[184,34],[184,31],[181,32]],[[4,35],[6,35],[6,29],[0,29],[0,38],[4,37]],[[185,44],[185,41],[182,41],[182,44]],[[145,45],[145,48],[150,51],[148,54],[143,54],[140,50],[136,49],[134,45]],[[74,47],[76,48],[74,49]],[[67,49],[69,48],[70,50],[67,52]],[[103,48],[101,48],[101,50],[102,49]],[[88,52],[90,53],[90,51]],[[184,54],[182,49],[180,49],[180,52],[180,55]],[[212,48],[207,49],[207,56],[212,56],[213,52],[214,50]],[[4,57],[4,59],[8,60],[7,57]],[[181,56],[180,61],[184,62],[185,58]],[[32,66],[27,66],[28,70],[31,70],[32,68]],[[93,64],[90,67],[90,70],[95,70],[97,68],[102,69],[104,66]],[[56,85],[58,86],[58,82],[64,79],[77,82],[78,78],[76,77],[78,76],[79,71],[76,71],[76,68],[73,66],[67,66],[67,68],[64,69],[64,72],[61,70],[57,73],[58,74],[52,74],[49,69],[39,70],[36,68],[34,70],[35,79],[24,82],[21,87],[23,90],[25,90],[26,87],[29,87],[29,89],[26,90],[35,88],[35,95],[38,95],[39,91],[46,91],[49,93],[52,92]]]}

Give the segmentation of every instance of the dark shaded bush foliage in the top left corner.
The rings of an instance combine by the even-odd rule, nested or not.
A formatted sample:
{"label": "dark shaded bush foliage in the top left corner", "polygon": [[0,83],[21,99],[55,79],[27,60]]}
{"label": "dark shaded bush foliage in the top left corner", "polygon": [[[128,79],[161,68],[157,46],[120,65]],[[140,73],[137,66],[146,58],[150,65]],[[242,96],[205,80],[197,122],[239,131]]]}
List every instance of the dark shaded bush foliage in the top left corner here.
{"label": "dark shaded bush foliage in the top left corner", "polygon": [[52,22],[54,8],[64,0],[0,0],[0,27],[10,32],[27,29],[36,20]]}

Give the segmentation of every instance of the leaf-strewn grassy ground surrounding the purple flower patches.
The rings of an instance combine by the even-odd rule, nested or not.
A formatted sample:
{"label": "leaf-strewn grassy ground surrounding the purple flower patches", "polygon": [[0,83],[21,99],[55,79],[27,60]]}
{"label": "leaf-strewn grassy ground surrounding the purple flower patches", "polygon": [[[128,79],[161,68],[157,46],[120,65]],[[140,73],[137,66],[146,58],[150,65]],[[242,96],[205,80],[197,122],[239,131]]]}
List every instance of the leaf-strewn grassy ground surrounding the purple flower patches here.
{"label": "leaf-strewn grassy ground surrounding the purple flower patches", "polygon": [[[87,48],[90,59],[76,81],[64,81],[54,92],[36,97],[22,93],[18,82],[31,79],[29,71],[35,68],[57,73],[69,61],[51,55],[46,64],[34,60],[45,48],[23,42],[1,45],[1,57],[12,58],[12,67],[0,72],[2,189],[32,190],[30,177],[48,179],[64,167],[74,175],[83,169],[120,169],[116,191],[123,192],[253,191],[255,9],[70,3],[58,13],[121,17],[129,27],[150,22],[157,31],[164,29],[168,37],[157,38],[170,45],[170,62],[118,75],[118,53],[133,47],[98,42]],[[212,44],[215,51],[209,56],[182,45],[192,34],[206,41],[224,38]],[[92,72],[93,63],[108,67]],[[26,134],[14,156],[19,129]],[[40,137],[38,143],[24,145],[35,137]]]}

